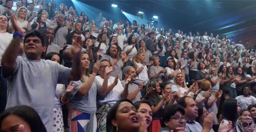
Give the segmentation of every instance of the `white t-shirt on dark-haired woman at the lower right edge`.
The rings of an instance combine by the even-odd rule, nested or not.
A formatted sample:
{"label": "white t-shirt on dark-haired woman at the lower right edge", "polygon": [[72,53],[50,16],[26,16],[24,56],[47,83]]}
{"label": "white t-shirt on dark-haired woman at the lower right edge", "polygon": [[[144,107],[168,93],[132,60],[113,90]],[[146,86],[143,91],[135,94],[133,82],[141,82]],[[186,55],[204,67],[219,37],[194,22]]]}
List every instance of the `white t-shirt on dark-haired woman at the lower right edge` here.
{"label": "white t-shirt on dark-haired woman at the lower right edge", "polygon": [[245,97],[244,95],[240,95],[235,98],[237,103],[241,109],[247,109],[250,104],[256,103],[256,98],[253,96]]}

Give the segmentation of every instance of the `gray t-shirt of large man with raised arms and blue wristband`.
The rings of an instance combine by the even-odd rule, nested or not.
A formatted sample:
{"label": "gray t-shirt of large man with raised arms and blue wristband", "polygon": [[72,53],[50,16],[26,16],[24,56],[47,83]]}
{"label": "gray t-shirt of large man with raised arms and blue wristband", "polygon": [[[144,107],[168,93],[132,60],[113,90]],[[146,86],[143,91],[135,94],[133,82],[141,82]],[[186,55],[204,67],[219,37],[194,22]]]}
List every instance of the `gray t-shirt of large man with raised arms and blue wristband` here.
{"label": "gray t-shirt of large man with raised arms and blue wristband", "polygon": [[40,115],[47,131],[51,131],[56,85],[68,85],[71,69],[50,60],[29,60],[22,56],[16,58],[16,64],[12,75],[2,72],[2,77],[8,79],[6,109],[30,106]]}

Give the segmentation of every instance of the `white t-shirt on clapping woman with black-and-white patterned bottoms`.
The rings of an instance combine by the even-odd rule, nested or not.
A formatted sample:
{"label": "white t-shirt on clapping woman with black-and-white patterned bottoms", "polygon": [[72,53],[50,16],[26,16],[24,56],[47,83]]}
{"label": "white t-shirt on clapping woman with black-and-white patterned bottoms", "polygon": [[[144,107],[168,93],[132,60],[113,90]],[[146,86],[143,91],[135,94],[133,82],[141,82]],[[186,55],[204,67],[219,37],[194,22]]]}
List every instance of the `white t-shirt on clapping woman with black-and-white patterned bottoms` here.
{"label": "white t-shirt on clapping woman with black-and-white patterned bottoms", "polygon": [[[115,77],[110,76],[108,79],[108,86],[114,83]],[[101,89],[101,85],[103,84],[104,79],[100,76],[96,76],[94,82],[97,86],[97,91]],[[107,94],[104,98],[98,99],[98,102],[101,104],[110,104],[114,105],[116,101],[122,99],[121,93],[124,88],[121,84],[121,81],[118,79],[117,85]]]}

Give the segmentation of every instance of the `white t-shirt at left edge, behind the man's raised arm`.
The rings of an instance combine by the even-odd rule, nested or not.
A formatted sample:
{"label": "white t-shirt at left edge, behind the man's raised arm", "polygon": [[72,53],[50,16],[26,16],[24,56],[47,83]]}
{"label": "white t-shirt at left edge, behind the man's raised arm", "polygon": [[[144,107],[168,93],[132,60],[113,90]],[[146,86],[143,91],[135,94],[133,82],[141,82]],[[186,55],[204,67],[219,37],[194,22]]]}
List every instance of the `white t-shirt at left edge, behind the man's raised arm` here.
{"label": "white t-shirt at left edge, behind the man's raised arm", "polygon": [[4,54],[4,51],[10,44],[13,34],[11,33],[0,33],[0,61]]}

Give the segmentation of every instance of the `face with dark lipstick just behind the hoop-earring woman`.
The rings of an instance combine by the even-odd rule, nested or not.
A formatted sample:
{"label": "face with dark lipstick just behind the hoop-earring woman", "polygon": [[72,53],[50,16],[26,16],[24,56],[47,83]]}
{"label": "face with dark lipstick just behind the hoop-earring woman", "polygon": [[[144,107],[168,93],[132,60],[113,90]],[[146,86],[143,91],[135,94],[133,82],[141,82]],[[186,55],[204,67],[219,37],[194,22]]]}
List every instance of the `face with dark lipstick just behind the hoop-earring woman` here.
{"label": "face with dark lipstick just behind the hoop-earring woman", "polygon": [[146,127],[148,128],[152,122],[153,116],[151,107],[147,103],[141,103],[138,109],[138,113],[143,117],[143,120],[146,122]]}

